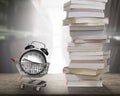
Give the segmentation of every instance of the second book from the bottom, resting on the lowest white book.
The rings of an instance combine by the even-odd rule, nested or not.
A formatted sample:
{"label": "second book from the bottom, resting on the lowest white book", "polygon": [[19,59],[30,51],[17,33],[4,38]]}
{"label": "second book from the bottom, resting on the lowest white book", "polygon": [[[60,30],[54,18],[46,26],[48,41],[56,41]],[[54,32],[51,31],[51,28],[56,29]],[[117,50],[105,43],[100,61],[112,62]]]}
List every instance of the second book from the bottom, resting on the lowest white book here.
{"label": "second book from the bottom, resting on the lowest white book", "polygon": [[102,74],[96,76],[78,75],[78,74],[65,74],[67,81],[83,81],[83,80],[101,80]]}

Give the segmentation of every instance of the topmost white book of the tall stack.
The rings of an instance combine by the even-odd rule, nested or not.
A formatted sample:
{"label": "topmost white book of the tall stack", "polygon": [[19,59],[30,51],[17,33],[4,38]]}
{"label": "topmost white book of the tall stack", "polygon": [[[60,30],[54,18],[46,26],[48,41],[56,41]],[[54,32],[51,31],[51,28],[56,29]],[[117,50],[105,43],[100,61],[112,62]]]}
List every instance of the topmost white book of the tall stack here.
{"label": "topmost white book of the tall stack", "polygon": [[98,1],[92,1],[92,0],[70,0],[64,4],[64,7],[69,6],[70,4],[83,4],[83,5],[93,5],[93,6],[100,6],[104,7],[105,3],[98,2]]}

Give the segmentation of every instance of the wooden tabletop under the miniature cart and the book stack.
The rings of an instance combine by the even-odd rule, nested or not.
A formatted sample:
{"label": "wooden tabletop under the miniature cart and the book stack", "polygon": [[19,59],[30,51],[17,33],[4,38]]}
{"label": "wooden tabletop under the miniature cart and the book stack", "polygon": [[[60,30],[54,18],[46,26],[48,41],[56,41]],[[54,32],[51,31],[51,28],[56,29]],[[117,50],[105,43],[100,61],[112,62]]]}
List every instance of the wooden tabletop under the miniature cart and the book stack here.
{"label": "wooden tabletop under the miniature cart and the book stack", "polygon": [[105,74],[102,88],[67,88],[64,74],[48,74],[40,79],[47,81],[47,86],[40,92],[32,88],[19,88],[19,74],[0,74],[0,94],[82,94],[113,95],[120,94],[120,74]]}

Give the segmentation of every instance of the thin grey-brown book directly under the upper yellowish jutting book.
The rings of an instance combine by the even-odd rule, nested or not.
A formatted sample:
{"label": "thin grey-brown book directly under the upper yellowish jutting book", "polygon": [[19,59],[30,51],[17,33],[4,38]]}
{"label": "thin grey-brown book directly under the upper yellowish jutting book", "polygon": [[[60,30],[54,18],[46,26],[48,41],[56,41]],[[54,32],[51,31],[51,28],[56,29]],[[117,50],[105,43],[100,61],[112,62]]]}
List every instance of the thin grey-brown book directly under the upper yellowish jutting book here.
{"label": "thin grey-brown book directly under the upper yellowish jutting book", "polygon": [[104,26],[70,26],[70,30],[100,30],[100,31],[104,31]]}

